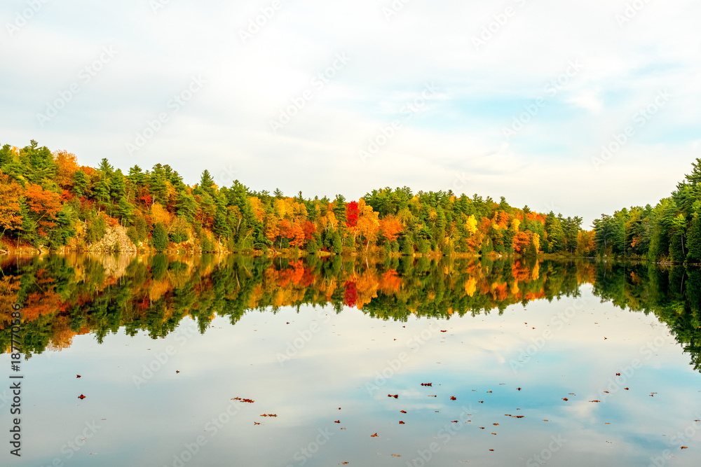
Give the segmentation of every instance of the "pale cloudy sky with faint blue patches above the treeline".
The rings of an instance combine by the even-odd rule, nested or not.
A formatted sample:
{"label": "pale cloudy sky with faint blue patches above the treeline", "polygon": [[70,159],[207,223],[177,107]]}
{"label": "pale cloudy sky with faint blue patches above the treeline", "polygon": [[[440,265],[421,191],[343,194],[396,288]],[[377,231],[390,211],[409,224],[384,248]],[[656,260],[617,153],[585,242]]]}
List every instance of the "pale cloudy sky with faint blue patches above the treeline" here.
{"label": "pale cloudy sky with faint blue patches above the treeline", "polygon": [[701,149],[693,0],[6,0],[0,144],[189,184],[655,205]]}

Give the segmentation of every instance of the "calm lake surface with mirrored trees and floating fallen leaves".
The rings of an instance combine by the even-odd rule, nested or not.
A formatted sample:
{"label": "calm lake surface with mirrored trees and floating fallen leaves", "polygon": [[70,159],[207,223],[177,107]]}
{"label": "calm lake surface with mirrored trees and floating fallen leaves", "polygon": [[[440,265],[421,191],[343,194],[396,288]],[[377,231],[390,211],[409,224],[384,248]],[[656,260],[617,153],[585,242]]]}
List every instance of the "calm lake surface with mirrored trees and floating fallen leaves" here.
{"label": "calm lake surface with mirrored trees and floating fallen leaves", "polygon": [[10,306],[23,307],[20,371],[0,357],[5,433],[10,376],[23,376],[22,456],[5,442],[1,465],[701,459],[698,270],[234,256],[1,267],[6,349]]}

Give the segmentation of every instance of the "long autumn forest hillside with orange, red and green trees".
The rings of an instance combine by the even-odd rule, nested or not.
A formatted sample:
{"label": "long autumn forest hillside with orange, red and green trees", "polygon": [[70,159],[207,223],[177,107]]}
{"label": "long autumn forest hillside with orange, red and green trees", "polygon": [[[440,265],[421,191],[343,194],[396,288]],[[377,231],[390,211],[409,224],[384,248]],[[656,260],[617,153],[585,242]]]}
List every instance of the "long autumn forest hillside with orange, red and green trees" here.
{"label": "long autumn forest hillside with orange, red and green trees", "polygon": [[[126,173],[106,158],[31,141],[0,149],[0,249],[464,256],[594,253],[582,218],[510,206],[504,197],[380,188],[360,200],[286,196],[238,180],[194,186],[170,165]],[[125,242],[118,242],[117,235]],[[109,234],[109,235],[108,235]],[[112,235],[114,234],[114,235]],[[108,239],[106,241],[105,239]]]}

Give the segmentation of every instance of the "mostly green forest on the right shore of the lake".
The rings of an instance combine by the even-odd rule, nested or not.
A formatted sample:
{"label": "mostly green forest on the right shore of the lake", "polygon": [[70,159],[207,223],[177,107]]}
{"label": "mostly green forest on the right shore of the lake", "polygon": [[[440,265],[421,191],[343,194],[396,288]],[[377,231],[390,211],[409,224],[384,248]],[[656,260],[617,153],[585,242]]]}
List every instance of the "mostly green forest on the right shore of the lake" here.
{"label": "mostly green forest on the right shore of the lake", "polygon": [[701,263],[701,159],[655,206],[623,208],[594,221],[600,256]]}

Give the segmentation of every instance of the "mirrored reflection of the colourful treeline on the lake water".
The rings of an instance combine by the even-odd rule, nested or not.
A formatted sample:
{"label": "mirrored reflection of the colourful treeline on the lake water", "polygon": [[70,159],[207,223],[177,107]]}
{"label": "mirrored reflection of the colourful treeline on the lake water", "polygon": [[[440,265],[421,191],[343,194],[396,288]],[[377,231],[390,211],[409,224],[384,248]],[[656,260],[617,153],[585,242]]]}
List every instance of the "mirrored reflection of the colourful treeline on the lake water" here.
{"label": "mirrored reflection of the colourful treeline on the lake water", "polygon": [[120,328],[163,337],[185,316],[201,333],[215,316],[322,305],[377,319],[501,314],[509,305],[580,295],[653,313],[701,370],[701,271],[606,261],[252,256],[44,256],[0,260],[0,341],[10,347],[11,305],[22,305],[27,356],[64,349],[74,335],[102,342]]}

